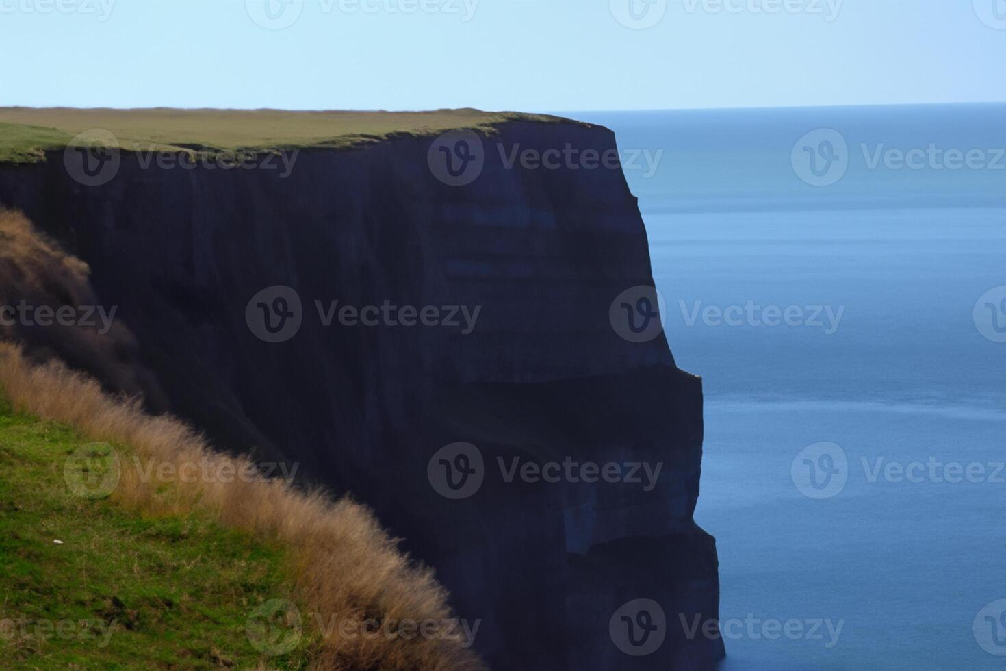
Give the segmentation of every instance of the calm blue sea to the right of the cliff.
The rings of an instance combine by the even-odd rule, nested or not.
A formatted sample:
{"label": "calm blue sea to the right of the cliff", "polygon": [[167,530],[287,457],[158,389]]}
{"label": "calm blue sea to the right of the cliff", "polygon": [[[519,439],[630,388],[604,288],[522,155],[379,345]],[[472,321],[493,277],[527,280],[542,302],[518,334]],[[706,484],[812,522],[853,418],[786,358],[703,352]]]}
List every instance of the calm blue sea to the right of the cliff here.
{"label": "calm blue sea to the right of the cliff", "polygon": [[[722,668],[1006,669],[1006,290],[986,296],[1006,285],[1006,105],[571,116],[624,161],[663,151],[626,175],[671,348],[703,377]],[[836,464],[804,461],[819,443],[844,475],[808,489],[801,469]],[[895,470],[871,478],[878,459]],[[948,482],[951,463],[985,475]],[[769,620],[842,629],[769,638]]]}

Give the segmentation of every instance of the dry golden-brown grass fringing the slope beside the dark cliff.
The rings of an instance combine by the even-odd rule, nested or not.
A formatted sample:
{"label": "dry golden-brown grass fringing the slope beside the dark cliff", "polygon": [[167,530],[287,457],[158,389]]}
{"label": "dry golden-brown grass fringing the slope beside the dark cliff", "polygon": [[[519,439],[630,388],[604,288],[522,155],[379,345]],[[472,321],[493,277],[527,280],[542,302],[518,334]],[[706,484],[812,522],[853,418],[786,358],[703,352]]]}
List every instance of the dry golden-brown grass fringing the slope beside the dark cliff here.
{"label": "dry golden-brown grass fringing the slope beside the dark cliff", "polygon": [[[17,269],[8,268],[8,278],[17,276],[22,287],[31,287],[31,274],[44,270],[74,291],[87,287],[86,269],[35,236],[30,224],[25,228],[23,217],[6,214],[0,221],[5,222],[0,239],[10,245],[2,257],[9,262],[23,255],[22,260],[28,260]],[[39,265],[39,260],[45,263]],[[216,473],[254,468],[246,458],[215,453],[181,422],[146,413],[138,398],[110,395],[95,379],[55,359],[39,362],[16,344],[0,343],[0,387],[17,409],[68,425],[89,440],[122,446],[145,463],[175,469],[208,463]],[[192,480],[175,479],[166,487],[136,469],[123,468],[112,496],[145,514],[206,514],[222,525],[282,544],[292,557],[291,597],[305,610],[306,631],[312,624],[308,614],[340,622],[376,618],[443,623],[453,618],[447,594],[432,572],[400,552],[367,508],[348,499],[333,501],[322,491],[301,491],[282,480]],[[450,638],[343,637],[336,632],[319,638],[318,645],[317,669],[484,668],[461,642]]]}

